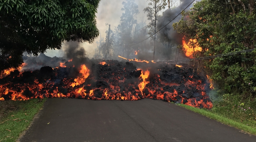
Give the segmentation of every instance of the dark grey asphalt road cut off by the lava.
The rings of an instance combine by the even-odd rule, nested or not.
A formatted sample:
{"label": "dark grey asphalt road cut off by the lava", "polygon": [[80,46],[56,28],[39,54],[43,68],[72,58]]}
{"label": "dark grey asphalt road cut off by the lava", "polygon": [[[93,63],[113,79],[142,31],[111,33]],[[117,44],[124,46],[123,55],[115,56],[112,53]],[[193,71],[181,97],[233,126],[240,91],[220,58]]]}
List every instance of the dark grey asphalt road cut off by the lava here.
{"label": "dark grey asphalt road cut off by the lava", "polygon": [[256,136],[161,100],[51,98],[21,141],[255,142]]}

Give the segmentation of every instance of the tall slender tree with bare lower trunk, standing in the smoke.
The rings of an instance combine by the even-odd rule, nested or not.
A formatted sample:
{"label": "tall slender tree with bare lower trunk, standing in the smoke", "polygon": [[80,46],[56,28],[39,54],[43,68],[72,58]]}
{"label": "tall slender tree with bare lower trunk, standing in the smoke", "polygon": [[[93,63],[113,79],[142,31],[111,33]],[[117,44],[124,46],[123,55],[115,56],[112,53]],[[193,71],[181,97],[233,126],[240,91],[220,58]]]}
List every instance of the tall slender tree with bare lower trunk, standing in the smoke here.
{"label": "tall slender tree with bare lower trunk, standing in the smoke", "polygon": [[[143,11],[148,12],[147,17],[150,21],[150,24],[148,25],[148,28],[150,29],[148,31],[149,35],[153,35],[156,33],[156,22],[157,18],[159,17],[159,12],[163,9],[165,9],[165,6],[167,5],[166,0],[147,0],[150,1],[148,3],[148,7],[146,7]],[[150,7],[153,6],[153,7]],[[151,39],[152,40],[152,39]],[[154,48],[153,48],[153,60],[155,57],[155,40],[156,40],[156,34],[154,35]]]}

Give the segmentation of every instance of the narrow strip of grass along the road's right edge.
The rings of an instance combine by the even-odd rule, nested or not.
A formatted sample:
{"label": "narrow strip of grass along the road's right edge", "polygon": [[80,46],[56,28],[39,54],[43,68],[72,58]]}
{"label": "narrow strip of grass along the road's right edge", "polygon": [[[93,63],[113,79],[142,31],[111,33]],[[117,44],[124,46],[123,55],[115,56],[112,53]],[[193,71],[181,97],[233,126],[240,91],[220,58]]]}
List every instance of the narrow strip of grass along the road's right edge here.
{"label": "narrow strip of grass along the road's right edge", "polygon": [[238,129],[240,129],[242,131],[245,131],[247,133],[256,135],[256,128],[251,127],[251,126],[247,126],[247,125],[245,125],[243,123],[240,123],[240,122],[237,122],[235,120],[226,118],[224,116],[221,116],[220,114],[215,114],[215,113],[210,112],[209,110],[199,109],[199,108],[187,106],[187,105],[184,105],[184,104],[177,104],[177,105],[181,106],[181,107],[184,107],[184,108],[186,108],[188,110],[191,110],[191,111],[193,111],[195,113],[199,113],[201,115],[204,115],[204,116],[206,116],[206,117],[208,117],[210,119],[217,120],[217,121],[219,121],[219,122],[221,122],[223,124],[226,124],[226,125],[238,128]]}

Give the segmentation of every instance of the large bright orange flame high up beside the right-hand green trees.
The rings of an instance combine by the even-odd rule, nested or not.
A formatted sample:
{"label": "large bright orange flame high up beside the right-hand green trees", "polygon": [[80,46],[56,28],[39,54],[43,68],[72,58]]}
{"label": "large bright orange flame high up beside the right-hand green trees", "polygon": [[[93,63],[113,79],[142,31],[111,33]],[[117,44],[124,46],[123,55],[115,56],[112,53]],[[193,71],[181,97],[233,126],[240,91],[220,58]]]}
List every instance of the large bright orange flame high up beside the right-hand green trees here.
{"label": "large bright orange flame high up beside the right-hand green trees", "polygon": [[[190,46],[191,42],[194,42],[194,44],[196,46],[194,49]],[[183,45],[183,48],[186,49],[186,54],[185,55],[187,57],[191,58],[191,59],[193,58],[194,52],[202,51],[202,48],[198,46],[198,43],[197,43],[196,39],[194,39],[194,40],[193,39],[189,39],[189,42],[186,43],[185,38],[183,37],[182,38],[182,45]]]}

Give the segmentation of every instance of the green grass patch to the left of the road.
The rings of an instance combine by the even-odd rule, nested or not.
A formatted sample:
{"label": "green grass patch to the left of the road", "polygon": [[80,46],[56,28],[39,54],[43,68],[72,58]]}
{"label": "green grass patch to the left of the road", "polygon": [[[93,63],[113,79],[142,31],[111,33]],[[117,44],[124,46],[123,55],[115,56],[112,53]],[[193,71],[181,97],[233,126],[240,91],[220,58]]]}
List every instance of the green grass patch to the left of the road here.
{"label": "green grass patch to the left of the road", "polygon": [[13,142],[18,139],[20,133],[30,125],[34,115],[43,107],[45,101],[46,99],[1,101],[0,142]]}

